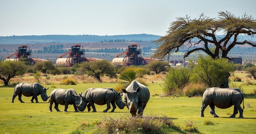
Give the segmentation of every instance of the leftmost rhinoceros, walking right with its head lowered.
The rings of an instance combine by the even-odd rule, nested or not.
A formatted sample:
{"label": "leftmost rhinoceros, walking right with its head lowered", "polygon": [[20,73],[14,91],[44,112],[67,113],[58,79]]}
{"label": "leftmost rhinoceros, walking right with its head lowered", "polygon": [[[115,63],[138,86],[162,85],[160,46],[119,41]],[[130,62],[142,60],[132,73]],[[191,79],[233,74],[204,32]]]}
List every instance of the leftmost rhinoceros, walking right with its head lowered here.
{"label": "leftmost rhinoceros, walking right with its head lowered", "polygon": [[33,96],[31,99],[31,103],[34,103],[34,101],[33,101],[34,99],[36,100],[36,103],[39,103],[37,100],[38,95],[41,95],[41,98],[43,101],[47,101],[47,99],[50,97],[50,96],[47,96],[47,94],[46,94],[47,89],[49,89],[49,88],[44,88],[39,83],[32,83],[32,84],[19,83],[14,87],[12,103],[14,103],[14,99],[17,95],[19,97],[18,100],[21,103],[24,103],[24,101],[21,100],[22,95],[24,95],[26,97]]}

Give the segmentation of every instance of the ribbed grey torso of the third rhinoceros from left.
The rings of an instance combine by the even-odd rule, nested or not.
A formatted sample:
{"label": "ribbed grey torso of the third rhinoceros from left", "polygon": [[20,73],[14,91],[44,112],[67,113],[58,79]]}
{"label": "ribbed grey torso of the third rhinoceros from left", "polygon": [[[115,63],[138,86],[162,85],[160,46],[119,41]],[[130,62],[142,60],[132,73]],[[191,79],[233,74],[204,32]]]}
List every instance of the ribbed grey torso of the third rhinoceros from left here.
{"label": "ribbed grey torso of the third rhinoceros from left", "polygon": [[106,99],[111,101],[115,99],[112,88],[89,88],[83,96],[87,101],[93,101],[97,105],[105,105]]}

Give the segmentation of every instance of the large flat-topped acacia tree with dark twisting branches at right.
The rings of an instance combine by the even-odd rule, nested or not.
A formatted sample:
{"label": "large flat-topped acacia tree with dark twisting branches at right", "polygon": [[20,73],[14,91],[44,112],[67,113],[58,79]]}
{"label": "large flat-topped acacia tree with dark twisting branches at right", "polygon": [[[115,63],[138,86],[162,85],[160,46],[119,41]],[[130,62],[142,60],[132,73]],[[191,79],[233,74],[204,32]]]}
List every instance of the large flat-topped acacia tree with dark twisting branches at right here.
{"label": "large flat-topped acacia tree with dark twisting branches at right", "polygon": [[[239,34],[251,36],[253,38],[256,34],[256,20],[252,16],[246,14],[242,17],[237,17],[230,12],[219,12],[217,18],[210,18],[201,14],[199,18],[191,19],[190,17],[179,17],[172,22],[167,35],[163,36],[155,43],[160,46],[155,51],[153,58],[163,58],[166,55],[178,52],[180,48],[194,47],[196,44],[202,42],[203,47],[194,48],[184,54],[184,58],[195,51],[204,51],[211,58],[227,58],[228,52],[236,44],[249,44],[256,47],[256,44],[250,40],[243,42],[237,41]],[[217,36],[216,33],[223,31],[223,36]],[[197,43],[192,43],[193,40],[199,40]],[[215,46],[215,51],[211,52],[209,45]],[[229,77],[229,75],[227,76]],[[228,79],[223,88],[228,87]]]}

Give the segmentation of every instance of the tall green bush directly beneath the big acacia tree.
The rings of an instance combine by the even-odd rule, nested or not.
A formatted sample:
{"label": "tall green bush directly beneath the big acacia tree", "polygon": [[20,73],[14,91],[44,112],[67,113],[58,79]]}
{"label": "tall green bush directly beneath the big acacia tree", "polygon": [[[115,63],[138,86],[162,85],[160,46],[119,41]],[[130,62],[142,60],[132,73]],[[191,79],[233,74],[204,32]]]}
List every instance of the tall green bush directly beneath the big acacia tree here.
{"label": "tall green bush directly beneath the big acacia tree", "polygon": [[[209,56],[199,55],[196,66],[193,68],[194,82],[203,82],[209,87],[225,87],[228,84],[228,78],[233,74],[232,63],[228,63],[225,58],[212,59]],[[228,85],[226,85],[228,87]]]}

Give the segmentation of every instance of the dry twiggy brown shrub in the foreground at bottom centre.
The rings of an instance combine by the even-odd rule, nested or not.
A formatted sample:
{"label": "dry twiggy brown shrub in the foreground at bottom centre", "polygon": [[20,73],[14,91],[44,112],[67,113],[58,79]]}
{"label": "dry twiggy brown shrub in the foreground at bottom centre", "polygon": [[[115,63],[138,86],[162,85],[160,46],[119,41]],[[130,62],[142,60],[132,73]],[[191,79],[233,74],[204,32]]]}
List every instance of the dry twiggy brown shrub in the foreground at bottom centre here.
{"label": "dry twiggy brown shrub in the foreground at bottom centre", "polygon": [[165,115],[144,115],[143,117],[131,116],[125,113],[120,116],[108,117],[104,115],[95,129],[104,133],[162,133],[166,127],[174,127],[174,123]]}

